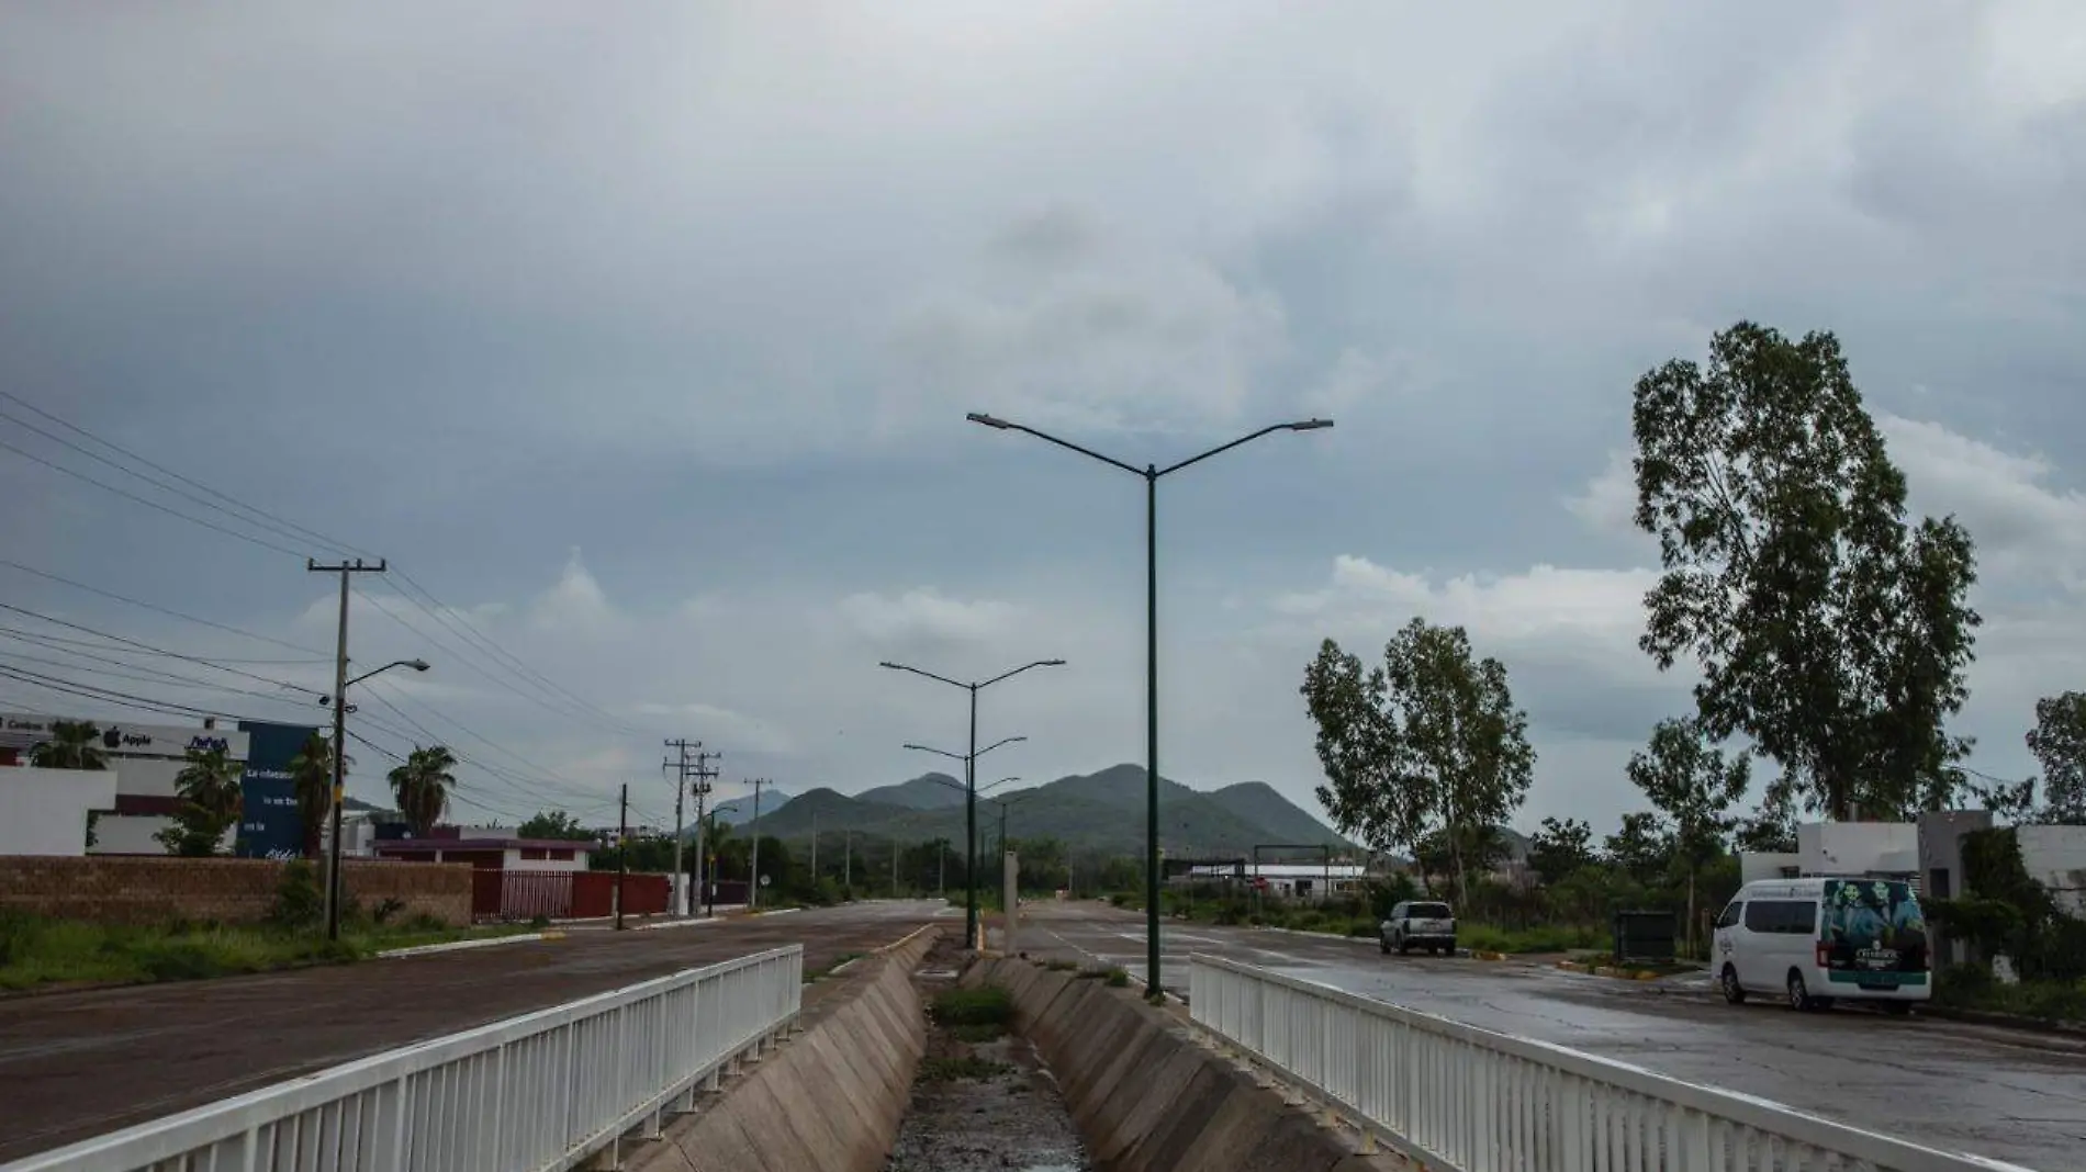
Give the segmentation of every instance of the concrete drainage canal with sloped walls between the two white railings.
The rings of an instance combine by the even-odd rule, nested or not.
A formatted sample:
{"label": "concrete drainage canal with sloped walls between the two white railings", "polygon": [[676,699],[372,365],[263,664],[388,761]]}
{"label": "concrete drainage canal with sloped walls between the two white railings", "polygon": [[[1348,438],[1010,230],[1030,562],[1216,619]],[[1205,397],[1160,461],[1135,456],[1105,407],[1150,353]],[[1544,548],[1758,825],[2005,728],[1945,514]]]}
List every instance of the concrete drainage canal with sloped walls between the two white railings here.
{"label": "concrete drainage canal with sloped walls between the two white railings", "polygon": [[[966,957],[928,930],[805,988],[801,1028],[624,1168],[1366,1172],[1404,1168],[1227,1057],[1120,972]],[[634,1159],[632,1159],[634,1155]]]}

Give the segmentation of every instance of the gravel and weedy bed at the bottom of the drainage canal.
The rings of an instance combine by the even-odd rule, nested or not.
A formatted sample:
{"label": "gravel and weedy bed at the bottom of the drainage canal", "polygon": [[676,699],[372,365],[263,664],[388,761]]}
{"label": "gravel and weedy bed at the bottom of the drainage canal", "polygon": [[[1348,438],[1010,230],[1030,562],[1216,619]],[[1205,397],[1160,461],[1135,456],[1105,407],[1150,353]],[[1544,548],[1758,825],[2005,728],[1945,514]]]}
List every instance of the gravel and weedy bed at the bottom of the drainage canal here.
{"label": "gravel and weedy bed at the bottom of the drainage canal", "polygon": [[914,984],[930,1007],[926,1057],[887,1172],[1091,1172],[1043,1057],[991,1018],[991,995],[955,993],[962,953],[937,945]]}

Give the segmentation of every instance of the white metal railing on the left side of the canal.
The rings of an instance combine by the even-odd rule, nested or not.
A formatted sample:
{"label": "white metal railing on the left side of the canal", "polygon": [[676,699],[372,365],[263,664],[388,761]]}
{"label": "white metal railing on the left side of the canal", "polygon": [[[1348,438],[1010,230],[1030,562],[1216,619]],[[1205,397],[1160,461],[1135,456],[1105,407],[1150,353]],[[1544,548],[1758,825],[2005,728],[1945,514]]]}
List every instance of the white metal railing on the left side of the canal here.
{"label": "white metal railing on the left side of the canal", "polygon": [[[803,1005],[803,945],[384,1051],[0,1172],[536,1172],[693,1105]],[[313,1005],[323,1014],[323,1005]]]}

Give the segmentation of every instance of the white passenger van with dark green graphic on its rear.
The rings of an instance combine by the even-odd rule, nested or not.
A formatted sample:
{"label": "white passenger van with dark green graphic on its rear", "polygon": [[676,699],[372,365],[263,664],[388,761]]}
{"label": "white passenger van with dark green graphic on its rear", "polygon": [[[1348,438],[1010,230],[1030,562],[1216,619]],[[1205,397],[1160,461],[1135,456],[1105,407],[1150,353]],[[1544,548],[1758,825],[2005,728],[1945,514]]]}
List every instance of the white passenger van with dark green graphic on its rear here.
{"label": "white passenger van with dark green graphic on its rear", "polygon": [[1717,918],[1717,984],[1731,1005],[1788,997],[1792,1009],[1873,1001],[1905,1014],[1934,995],[1927,920],[1902,880],[1756,880]]}

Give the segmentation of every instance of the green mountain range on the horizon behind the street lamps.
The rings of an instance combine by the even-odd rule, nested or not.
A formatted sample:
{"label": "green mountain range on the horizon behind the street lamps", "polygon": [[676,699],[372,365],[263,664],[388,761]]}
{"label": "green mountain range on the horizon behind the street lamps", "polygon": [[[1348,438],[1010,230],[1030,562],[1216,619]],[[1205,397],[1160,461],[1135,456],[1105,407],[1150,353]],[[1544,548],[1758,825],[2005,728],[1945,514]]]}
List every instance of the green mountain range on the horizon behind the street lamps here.
{"label": "green mountain range on the horizon behind the street lamps", "polygon": [[[941,801],[941,792],[953,801]],[[937,805],[909,805],[928,801]],[[1097,774],[1060,778],[1047,786],[989,795],[978,801],[980,840],[999,836],[1001,809],[1012,838],[1058,838],[1074,851],[1135,855],[1145,845],[1145,772],[1137,765],[1114,765]],[[757,830],[782,840],[809,840],[814,826],[822,840],[853,832],[901,843],[932,838],[962,843],[964,795],[926,778],[878,786],[855,797],[818,788],[763,815]],[[1243,857],[1256,845],[1277,843],[1291,847],[1323,843],[1335,851],[1358,851],[1262,782],[1204,792],[1162,778],[1160,847],[1168,855]],[[1287,853],[1308,857],[1304,851]]]}

